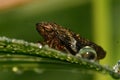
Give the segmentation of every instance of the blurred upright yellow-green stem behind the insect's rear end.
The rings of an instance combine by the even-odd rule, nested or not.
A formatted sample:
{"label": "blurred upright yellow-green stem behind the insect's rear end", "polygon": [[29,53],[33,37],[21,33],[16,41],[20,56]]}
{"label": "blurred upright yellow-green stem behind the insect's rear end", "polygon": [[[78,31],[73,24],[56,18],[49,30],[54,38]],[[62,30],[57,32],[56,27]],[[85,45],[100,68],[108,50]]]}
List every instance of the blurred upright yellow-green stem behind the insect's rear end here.
{"label": "blurred upright yellow-green stem behind the insect's rear end", "polygon": [[[106,50],[106,58],[102,61],[102,64],[108,63],[113,65],[112,62],[112,27],[111,27],[111,12],[110,1],[111,0],[92,0],[93,3],[93,35],[94,41]],[[99,77],[99,79],[98,79]],[[97,80],[110,80],[110,78],[102,78],[96,76]]]}

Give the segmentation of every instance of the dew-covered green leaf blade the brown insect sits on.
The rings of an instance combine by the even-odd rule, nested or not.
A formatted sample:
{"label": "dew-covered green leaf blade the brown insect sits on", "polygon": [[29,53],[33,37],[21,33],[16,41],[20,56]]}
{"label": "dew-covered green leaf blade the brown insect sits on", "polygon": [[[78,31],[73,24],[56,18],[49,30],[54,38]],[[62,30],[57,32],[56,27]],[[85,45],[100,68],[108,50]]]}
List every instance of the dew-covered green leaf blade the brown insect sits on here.
{"label": "dew-covered green leaf blade the brown insect sits on", "polygon": [[75,69],[77,72],[90,70],[120,78],[119,73],[99,63],[51,49],[47,45],[39,47],[37,43],[0,37],[0,69],[16,73],[29,70],[40,73],[46,69],[68,71]]}

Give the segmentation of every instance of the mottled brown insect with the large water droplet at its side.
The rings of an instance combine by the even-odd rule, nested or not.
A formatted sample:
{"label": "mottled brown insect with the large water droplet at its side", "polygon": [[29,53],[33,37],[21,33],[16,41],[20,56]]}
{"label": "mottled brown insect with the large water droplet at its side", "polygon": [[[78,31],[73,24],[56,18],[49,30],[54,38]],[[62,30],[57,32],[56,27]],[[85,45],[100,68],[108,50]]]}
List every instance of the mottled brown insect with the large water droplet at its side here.
{"label": "mottled brown insect with the large water droplet at its side", "polygon": [[79,54],[82,58],[95,61],[106,55],[106,52],[99,45],[56,23],[40,22],[36,24],[36,29],[44,38],[42,44],[47,44],[56,50],[72,55]]}

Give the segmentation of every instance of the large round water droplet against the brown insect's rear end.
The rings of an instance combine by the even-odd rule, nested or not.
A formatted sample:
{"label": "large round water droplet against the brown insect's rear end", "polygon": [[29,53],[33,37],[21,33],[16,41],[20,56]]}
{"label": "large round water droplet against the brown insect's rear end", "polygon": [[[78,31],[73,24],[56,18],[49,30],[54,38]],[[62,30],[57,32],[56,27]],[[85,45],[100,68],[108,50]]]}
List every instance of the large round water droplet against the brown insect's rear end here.
{"label": "large round water droplet against the brown insect's rear end", "polygon": [[93,61],[97,59],[96,51],[90,46],[85,46],[82,49],[80,49],[79,53],[76,54],[76,56]]}

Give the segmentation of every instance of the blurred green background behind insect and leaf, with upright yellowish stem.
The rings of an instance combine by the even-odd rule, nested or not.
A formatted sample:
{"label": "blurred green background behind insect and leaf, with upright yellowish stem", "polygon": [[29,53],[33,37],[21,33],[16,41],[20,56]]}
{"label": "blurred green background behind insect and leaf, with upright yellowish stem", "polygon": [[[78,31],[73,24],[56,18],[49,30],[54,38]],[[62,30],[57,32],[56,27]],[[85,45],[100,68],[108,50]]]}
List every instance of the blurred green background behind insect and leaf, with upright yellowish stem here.
{"label": "blurred green background behind insect and leaf, with upright yellowish stem", "polygon": [[[10,0],[4,0],[7,3]],[[17,0],[16,0],[17,1]],[[21,0],[22,1],[22,0]],[[11,4],[10,4],[11,2]],[[101,64],[113,66],[120,58],[120,0],[0,0],[0,36],[37,42],[41,21],[55,22],[101,45],[107,52]],[[12,2],[15,2],[14,4]],[[6,7],[7,6],[7,7]],[[11,78],[10,78],[11,77]],[[1,72],[0,80],[112,80],[110,76],[69,71]]]}

